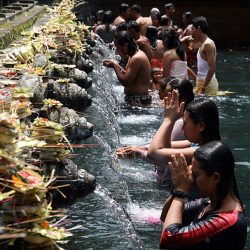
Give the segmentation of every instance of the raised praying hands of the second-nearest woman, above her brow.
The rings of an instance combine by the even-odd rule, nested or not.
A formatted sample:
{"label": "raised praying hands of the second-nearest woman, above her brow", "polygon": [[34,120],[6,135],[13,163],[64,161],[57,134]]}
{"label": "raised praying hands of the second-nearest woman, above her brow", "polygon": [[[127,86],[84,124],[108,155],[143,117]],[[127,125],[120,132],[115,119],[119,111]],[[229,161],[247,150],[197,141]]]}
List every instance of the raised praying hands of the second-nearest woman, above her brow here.
{"label": "raised praying hands of the second-nearest woman, above her brow", "polygon": [[164,118],[171,120],[178,120],[184,113],[184,102],[179,105],[179,94],[177,90],[173,90],[172,93],[168,93],[167,97],[164,97]]}

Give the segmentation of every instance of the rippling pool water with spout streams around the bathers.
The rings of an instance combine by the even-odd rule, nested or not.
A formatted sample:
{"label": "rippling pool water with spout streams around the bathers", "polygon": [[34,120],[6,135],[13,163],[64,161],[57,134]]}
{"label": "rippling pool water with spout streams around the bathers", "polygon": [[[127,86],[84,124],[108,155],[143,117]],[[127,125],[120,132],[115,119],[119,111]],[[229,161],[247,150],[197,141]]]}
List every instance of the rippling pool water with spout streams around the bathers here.
{"label": "rippling pool water with spout streams around the bathers", "polygon": [[[92,55],[95,70],[90,91],[94,103],[85,112],[95,124],[88,142],[100,147],[79,150],[75,159],[79,167],[96,176],[98,185],[68,208],[71,225],[81,228],[74,231],[65,248],[159,249],[159,215],[169,189],[157,184],[153,165],[141,159],[116,160],[114,152],[120,146],[149,143],[162,121],[162,110],[154,104],[151,108],[126,107],[123,87],[112,69],[101,63],[114,53],[104,54],[107,49],[102,45],[98,48],[103,55]],[[236,176],[249,217],[250,50],[219,51],[217,62],[221,90],[235,93],[212,99],[220,110],[223,141],[235,155]],[[250,249],[248,238],[246,249]]]}

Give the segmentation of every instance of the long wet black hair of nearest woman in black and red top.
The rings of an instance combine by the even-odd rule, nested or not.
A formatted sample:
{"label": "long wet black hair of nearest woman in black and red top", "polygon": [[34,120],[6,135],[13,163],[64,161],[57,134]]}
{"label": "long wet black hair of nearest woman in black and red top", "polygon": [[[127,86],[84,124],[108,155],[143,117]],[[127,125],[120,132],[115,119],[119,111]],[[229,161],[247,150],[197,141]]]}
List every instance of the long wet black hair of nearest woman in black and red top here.
{"label": "long wet black hair of nearest woman in black and red top", "polygon": [[221,141],[211,141],[199,147],[194,153],[194,159],[198,161],[199,167],[212,175],[214,172],[220,174],[220,182],[217,186],[217,201],[215,210],[222,205],[223,199],[228,193],[237,201],[242,209],[243,204],[238,192],[237,182],[234,175],[235,161],[230,148]]}

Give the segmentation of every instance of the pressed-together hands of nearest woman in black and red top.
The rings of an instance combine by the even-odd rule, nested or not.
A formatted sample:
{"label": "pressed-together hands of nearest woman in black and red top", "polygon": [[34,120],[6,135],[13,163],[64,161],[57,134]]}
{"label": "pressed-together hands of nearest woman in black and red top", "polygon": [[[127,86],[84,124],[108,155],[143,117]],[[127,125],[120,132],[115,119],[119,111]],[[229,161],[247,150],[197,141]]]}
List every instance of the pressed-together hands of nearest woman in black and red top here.
{"label": "pressed-together hands of nearest woman in black and red top", "polygon": [[171,159],[169,167],[174,188],[189,193],[194,183],[192,165],[188,166],[185,156],[180,153],[172,155]]}

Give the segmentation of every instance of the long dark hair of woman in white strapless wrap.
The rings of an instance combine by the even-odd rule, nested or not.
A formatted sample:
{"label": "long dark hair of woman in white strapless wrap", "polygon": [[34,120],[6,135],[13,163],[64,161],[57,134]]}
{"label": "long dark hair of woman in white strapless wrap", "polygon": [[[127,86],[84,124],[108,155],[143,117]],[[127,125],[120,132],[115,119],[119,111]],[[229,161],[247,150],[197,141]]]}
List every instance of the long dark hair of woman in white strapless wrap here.
{"label": "long dark hair of woman in white strapless wrap", "polygon": [[185,51],[179,40],[179,36],[173,29],[165,29],[162,33],[162,41],[167,49],[176,49],[177,55],[182,61],[185,60]]}

